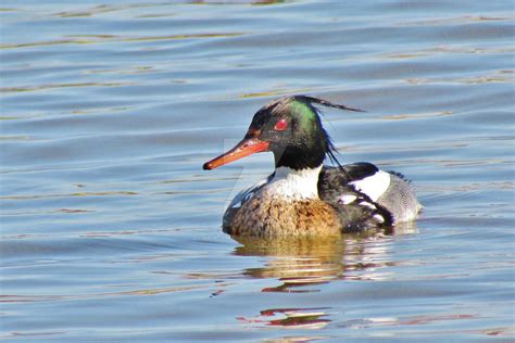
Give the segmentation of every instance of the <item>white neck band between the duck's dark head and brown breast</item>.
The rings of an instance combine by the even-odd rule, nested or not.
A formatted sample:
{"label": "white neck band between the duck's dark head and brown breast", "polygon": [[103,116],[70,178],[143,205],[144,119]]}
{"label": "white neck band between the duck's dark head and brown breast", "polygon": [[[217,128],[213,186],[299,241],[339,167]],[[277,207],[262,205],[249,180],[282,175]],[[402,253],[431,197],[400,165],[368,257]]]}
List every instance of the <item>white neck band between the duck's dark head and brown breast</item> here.
{"label": "white neck band between the duck's dark head and brown breast", "polygon": [[289,167],[275,169],[274,178],[266,185],[266,194],[285,201],[318,199],[318,176],[322,164],[300,170]]}

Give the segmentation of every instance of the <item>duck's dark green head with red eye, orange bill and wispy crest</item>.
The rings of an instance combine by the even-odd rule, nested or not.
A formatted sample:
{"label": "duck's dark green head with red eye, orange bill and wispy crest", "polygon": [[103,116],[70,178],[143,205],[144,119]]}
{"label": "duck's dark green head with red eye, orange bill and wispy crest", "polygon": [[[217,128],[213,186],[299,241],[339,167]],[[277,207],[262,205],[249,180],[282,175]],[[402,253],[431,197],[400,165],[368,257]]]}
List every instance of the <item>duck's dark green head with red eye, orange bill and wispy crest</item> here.
{"label": "duck's dark green head with red eye, orange bill and wispy crest", "polygon": [[276,99],[254,114],[243,140],[206,162],[203,168],[214,169],[263,151],[274,153],[276,168],[284,166],[296,170],[319,166],[326,154],[334,158],[335,149],[314,104],[363,112],[305,96]]}

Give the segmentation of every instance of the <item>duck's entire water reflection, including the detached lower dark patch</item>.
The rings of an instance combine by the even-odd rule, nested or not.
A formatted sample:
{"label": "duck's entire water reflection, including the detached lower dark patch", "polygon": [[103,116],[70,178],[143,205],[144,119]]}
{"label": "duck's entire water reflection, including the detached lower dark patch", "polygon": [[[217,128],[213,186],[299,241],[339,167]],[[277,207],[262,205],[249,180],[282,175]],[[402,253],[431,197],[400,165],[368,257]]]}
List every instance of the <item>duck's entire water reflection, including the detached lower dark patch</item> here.
{"label": "duck's entire water reflection, including the detached lower dark patch", "polygon": [[[334,280],[382,280],[385,267],[394,266],[389,258],[393,234],[416,231],[416,225],[403,225],[395,231],[362,236],[260,239],[234,237],[241,244],[235,250],[241,256],[269,256],[262,267],[248,268],[252,278],[278,279],[279,284],[262,292],[322,292],[322,284]],[[330,307],[266,308],[253,317],[237,319],[252,325],[297,329],[322,329],[331,320]]]}

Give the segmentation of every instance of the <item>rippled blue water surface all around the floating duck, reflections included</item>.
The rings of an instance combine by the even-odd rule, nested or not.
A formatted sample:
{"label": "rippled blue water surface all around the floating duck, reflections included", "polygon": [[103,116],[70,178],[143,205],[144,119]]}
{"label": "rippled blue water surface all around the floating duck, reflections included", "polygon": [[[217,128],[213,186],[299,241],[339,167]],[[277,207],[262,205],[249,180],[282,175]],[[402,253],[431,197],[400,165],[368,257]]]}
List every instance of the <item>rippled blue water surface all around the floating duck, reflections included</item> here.
{"label": "rippled blue water surface all around the floating duck, reflections included", "polygon": [[[510,341],[512,1],[2,1],[0,339]],[[393,234],[237,242],[212,172],[305,93],[340,161],[409,176]]]}

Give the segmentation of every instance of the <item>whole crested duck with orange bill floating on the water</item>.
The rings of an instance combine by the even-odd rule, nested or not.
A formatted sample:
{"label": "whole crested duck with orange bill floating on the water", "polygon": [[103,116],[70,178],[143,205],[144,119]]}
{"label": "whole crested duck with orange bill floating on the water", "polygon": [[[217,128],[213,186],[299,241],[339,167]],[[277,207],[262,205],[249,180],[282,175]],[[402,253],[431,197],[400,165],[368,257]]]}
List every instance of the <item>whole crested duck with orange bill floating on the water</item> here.
{"label": "whole crested duck with orange bill floating on the water", "polygon": [[[275,170],[239,192],[222,228],[231,236],[313,237],[363,232],[413,221],[422,208],[401,173],[368,162],[341,165],[319,106],[365,112],[310,96],[275,99],[253,116],[244,138],[204,163],[211,170],[272,152]],[[330,165],[324,165],[329,160]]]}

